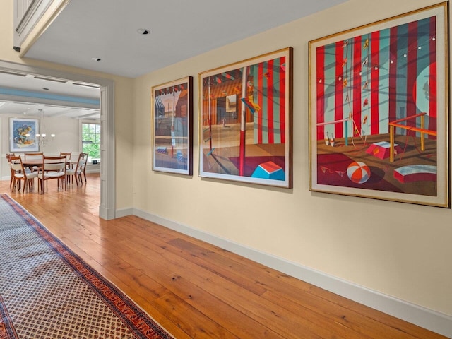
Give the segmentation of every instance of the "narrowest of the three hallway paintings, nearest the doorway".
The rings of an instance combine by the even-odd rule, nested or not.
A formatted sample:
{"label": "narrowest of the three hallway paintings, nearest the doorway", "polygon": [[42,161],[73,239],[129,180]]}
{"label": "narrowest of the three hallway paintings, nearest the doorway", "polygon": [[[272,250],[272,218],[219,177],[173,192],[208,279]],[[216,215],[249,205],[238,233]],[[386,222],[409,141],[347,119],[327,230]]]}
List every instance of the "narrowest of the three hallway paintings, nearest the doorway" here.
{"label": "narrowest of the three hallway paintings, nearest the doorway", "polygon": [[193,171],[193,77],[152,89],[153,170],[191,175]]}

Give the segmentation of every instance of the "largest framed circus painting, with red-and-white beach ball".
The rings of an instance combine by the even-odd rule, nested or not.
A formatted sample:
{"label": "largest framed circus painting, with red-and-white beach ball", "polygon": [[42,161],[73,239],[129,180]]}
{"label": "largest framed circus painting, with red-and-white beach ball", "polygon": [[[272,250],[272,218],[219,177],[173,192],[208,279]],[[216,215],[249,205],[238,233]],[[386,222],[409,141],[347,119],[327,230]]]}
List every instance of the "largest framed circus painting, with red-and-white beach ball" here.
{"label": "largest framed circus painting, with red-and-white beach ball", "polygon": [[309,42],[309,189],[450,207],[447,3]]}

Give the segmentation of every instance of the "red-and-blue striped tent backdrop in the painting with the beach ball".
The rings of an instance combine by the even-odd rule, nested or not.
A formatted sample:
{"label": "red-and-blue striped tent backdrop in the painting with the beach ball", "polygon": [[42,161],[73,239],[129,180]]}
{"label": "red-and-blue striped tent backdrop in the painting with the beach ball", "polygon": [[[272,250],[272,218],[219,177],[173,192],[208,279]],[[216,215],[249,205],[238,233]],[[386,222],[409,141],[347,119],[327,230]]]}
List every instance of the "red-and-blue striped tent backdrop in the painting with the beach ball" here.
{"label": "red-and-blue striped tent backdrop in the painting with the beach ball", "polygon": [[436,131],[435,37],[432,16],[317,47],[317,140],[388,133],[389,121],[422,112]]}

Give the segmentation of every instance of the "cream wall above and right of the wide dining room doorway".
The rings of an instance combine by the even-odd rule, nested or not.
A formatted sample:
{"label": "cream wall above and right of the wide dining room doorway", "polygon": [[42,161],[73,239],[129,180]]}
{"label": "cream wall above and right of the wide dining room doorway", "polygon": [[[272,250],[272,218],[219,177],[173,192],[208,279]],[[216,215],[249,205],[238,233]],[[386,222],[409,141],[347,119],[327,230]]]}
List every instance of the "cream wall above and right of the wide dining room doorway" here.
{"label": "cream wall above and right of the wide dining room doorway", "polygon": [[[131,116],[133,112],[133,79],[113,76],[107,73],[52,64],[32,59],[20,59],[13,50],[13,0],[2,0],[0,11],[0,60],[26,64],[66,73],[84,74],[98,78],[112,79],[115,83],[115,122],[116,122],[116,205],[117,208],[130,208],[132,203],[132,179],[129,164],[132,162],[133,133]],[[47,120],[46,120],[47,124]]]}

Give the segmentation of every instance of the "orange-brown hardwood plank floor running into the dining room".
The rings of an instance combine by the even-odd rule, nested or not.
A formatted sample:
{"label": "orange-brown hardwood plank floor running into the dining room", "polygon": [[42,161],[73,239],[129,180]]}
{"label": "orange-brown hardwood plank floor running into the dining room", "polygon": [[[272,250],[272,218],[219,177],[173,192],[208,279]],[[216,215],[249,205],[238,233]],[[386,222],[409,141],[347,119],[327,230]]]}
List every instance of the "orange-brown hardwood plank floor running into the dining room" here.
{"label": "orange-brown hardwood plank floor running into the dining room", "polygon": [[83,187],[7,193],[175,338],[445,338],[135,216],[97,216]]}

